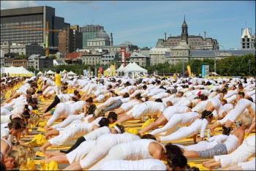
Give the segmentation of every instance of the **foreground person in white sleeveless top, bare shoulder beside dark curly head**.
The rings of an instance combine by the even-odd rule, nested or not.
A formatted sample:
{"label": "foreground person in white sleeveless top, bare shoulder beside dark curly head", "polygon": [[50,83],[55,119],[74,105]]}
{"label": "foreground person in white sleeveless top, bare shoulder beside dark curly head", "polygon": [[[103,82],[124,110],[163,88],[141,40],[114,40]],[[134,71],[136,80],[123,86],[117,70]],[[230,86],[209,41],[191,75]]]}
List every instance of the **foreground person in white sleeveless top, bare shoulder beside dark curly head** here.
{"label": "foreground person in white sleeveless top, bare shoulder beside dark curly head", "polygon": [[[117,153],[118,151],[118,153]],[[156,141],[151,134],[141,137],[141,140],[120,143],[110,148],[108,155],[101,159],[89,170],[101,170],[102,164],[113,159],[140,160],[162,159],[166,160],[163,145]]]}

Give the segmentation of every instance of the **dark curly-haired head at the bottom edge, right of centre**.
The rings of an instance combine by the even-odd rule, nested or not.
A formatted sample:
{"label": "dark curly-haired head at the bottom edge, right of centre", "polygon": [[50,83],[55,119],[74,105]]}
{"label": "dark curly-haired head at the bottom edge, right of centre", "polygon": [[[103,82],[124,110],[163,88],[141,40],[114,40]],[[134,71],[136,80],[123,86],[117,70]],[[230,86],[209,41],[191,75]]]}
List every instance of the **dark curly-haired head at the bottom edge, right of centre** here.
{"label": "dark curly-haired head at the bottom edge, right of centre", "polygon": [[167,170],[186,170],[187,158],[182,154],[172,154],[167,157]]}

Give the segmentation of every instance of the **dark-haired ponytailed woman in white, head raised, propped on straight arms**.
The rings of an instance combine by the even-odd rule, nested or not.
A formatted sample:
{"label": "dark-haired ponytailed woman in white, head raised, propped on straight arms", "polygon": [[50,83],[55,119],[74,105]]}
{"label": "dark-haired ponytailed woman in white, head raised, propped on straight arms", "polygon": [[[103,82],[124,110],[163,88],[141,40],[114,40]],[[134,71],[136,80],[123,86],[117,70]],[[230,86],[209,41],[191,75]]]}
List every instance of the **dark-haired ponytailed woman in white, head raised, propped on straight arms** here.
{"label": "dark-haired ponytailed woman in white, head raised, propped on straight arms", "polygon": [[194,142],[196,142],[197,132],[200,131],[200,141],[205,136],[206,127],[208,123],[211,123],[213,114],[210,111],[204,110],[201,118],[197,118],[190,126],[181,127],[178,131],[165,137],[157,137],[158,142],[171,142],[176,140],[182,140],[187,137],[194,135]]}

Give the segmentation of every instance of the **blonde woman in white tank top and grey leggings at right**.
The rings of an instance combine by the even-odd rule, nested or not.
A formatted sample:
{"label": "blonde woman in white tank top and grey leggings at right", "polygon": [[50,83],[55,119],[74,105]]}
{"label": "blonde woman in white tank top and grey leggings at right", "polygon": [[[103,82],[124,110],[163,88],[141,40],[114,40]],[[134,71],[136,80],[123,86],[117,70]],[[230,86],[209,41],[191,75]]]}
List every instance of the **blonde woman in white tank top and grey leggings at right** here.
{"label": "blonde woman in white tank top and grey leggings at right", "polygon": [[206,151],[185,151],[184,156],[187,158],[211,159],[214,156],[231,153],[241,145],[244,140],[244,130],[248,129],[251,123],[252,118],[249,115],[242,115],[240,126],[230,133],[225,142],[219,143],[214,148]]}

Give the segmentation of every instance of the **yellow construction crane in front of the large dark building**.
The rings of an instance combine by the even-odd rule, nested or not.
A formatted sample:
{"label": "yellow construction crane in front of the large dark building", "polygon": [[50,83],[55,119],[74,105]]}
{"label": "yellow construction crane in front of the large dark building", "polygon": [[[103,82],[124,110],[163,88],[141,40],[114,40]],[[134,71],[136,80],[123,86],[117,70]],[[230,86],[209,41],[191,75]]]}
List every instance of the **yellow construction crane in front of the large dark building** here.
{"label": "yellow construction crane in front of the large dark building", "polygon": [[58,31],[58,32],[64,31],[64,30],[61,30],[61,29],[49,29],[48,21],[46,22],[46,27],[45,28],[37,28],[37,27],[29,27],[29,26],[1,26],[1,27],[45,31],[45,56],[49,56],[49,46],[48,46],[49,31]]}

